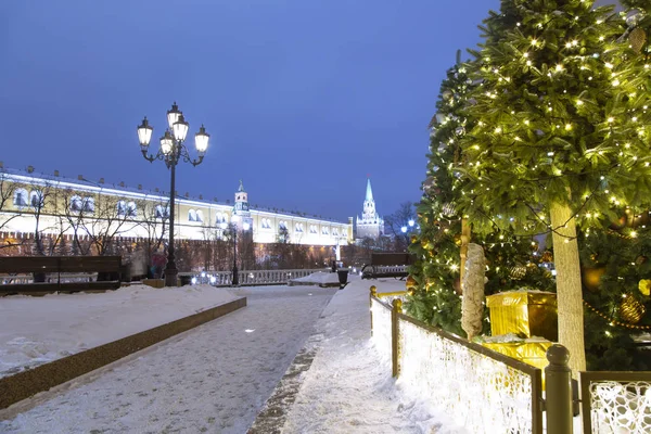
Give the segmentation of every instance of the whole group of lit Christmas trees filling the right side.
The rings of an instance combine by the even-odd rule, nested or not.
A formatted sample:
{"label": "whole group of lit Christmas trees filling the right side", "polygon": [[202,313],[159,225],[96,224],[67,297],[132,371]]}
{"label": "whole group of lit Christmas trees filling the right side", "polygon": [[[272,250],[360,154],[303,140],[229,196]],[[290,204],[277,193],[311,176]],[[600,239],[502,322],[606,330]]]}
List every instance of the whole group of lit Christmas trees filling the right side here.
{"label": "whole group of lit Christmas trees filling the right side", "polygon": [[[458,305],[447,286],[459,267],[448,256],[449,238],[483,244],[489,271],[508,270],[506,279],[488,276],[488,285],[503,280],[506,288],[544,288],[549,276],[529,266],[536,265],[531,246],[537,245],[533,237],[548,234],[559,341],[574,371],[586,369],[582,250],[584,275],[588,265],[610,273],[597,279],[604,293],[593,297],[601,323],[587,336],[601,345],[588,343],[592,357],[614,350],[603,344],[613,324],[630,333],[649,321],[648,290],[630,286],[637,280],[641,289],[651,277],[648,243],[635,242],[630,255],[638,258],[630,260],[607,248],[605,238],[646,235],[646,224],[617,222],[646,215],[651,197],[651,2],[622,4],[625,11],[615,13],[593,1],[502,0],[481,26],[473,59],[448,72],[419,206],[423,230],[411,247],[422,259],[414,267],[413,315],[434,322],[458,318],[456,308],[446,310],[448,303]],[[623,276],[615,264],[625,260]],[[620,285],[600,286],[611,280]],[[633,310],[642,314],[629,315],[623,299],[634,299]]]}

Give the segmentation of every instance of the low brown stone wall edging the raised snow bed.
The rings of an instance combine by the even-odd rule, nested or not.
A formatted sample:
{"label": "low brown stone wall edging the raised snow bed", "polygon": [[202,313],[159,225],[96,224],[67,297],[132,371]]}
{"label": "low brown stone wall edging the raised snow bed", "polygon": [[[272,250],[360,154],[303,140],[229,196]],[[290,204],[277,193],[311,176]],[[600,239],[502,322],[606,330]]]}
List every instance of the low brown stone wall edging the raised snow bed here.
{"label": "low brown stone wall edging the raised snow bed", "polygon": [[246,297],[0,379],[0,409],[246,306]]}

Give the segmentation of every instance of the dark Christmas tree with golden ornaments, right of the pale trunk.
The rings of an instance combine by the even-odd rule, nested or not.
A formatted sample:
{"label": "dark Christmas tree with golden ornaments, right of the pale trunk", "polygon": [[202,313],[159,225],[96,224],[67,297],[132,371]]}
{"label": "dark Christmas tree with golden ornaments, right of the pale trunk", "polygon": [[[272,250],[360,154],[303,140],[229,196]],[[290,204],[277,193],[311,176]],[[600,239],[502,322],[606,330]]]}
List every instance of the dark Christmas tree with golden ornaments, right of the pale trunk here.
{"label": "dark Christmas tree with golden ornaments, right of the pale trunk", "polygon": [[579,234],[586,358],[590,370],[647,370],[648,352],[634,336],[651,330],[649,212],[622,209],[608,229]]}

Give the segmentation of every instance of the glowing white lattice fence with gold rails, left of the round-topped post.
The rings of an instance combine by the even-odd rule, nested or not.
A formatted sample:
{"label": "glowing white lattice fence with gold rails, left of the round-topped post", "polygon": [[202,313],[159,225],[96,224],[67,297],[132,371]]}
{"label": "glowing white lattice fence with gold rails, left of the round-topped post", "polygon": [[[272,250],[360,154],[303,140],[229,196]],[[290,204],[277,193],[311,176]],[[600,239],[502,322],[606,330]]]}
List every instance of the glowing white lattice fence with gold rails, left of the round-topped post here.
{"label": "glowing white lattice fence with gold rails, left of the round-topped post", "polygon": [[403,315],[399,303],[392,310],[373,294],[372,340],[413,394],[471,433],[542,432],[540,369]]}

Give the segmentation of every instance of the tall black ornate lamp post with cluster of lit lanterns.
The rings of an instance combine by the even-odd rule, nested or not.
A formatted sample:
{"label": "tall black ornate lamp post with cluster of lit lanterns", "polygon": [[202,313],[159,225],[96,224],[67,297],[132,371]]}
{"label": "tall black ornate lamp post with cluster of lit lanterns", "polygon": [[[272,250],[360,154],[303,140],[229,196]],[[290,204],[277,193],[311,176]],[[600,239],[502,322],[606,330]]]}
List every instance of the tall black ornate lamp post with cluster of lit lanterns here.
{"label": "tall black ornate lamp post with cluster of lit lanterns", "polygon": [[[169,246],[167,248],[167,266],[165,267],[165,286],[177,285],[177,275],[179,270],[174,260],[174,200],[176,194],[176,166],[182,159],[186,163],[191,163],[197,166],[203,162],[206,150],[208,149],[208,139],[210,136],[206,132],[202,125],[199,132],[194,135],[194,146],[199,155],[197,159],[192,159],[188,148],[184,145],[186,136],[188,135],[189,124],[183,118],[183,113],[179,111],[176,102],[171,105],[171,110],[167,111],[168,128],[165,129],[165,135],[161,138],[161,148],[155,155],[149,153],[149,144],[152,139],[154,128],[149,125],[146,116],[142,119],[142,124],[138,127],[138,140],[140,141],[140,151],[142,156],[153,163],[155,159],[162,159],[170,173],[169,187]],[[170,132],[171,131],[171,132]]]}

